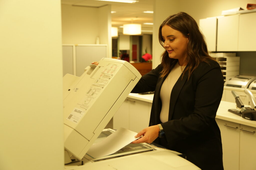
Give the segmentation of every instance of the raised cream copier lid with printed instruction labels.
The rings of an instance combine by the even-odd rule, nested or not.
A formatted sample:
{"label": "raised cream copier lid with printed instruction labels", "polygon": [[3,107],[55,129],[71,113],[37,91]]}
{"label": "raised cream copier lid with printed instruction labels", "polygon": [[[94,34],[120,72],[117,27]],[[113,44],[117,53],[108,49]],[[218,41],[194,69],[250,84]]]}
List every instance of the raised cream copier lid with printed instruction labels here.
{"label": "raised cream copier lid with printed instruction labels", "polygon": [[83,158],[140,78],[130,63],[111,58],[86,67],[80,77],[63,77],[64,146],[69,154]]}

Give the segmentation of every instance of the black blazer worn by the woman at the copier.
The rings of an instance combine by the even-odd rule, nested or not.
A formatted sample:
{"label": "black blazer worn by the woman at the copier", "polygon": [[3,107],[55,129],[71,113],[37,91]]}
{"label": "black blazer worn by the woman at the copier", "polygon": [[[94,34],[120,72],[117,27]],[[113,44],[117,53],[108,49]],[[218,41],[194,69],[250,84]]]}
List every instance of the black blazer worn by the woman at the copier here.
{"label": "black blazer worn by the woman at the copier", "polygon": [[160,121],[160,90],[167,76],[160,77],[162,65],[142,76],[131,93],[155,91],[149,126],[163,126],[165,137],[154,142],[183,153],[201,169],[223,169],[219,127],[215,121],[223,93],[223,75],[219,64],[201,62],[188,80],[188,72],[174,85],[168,122]]}

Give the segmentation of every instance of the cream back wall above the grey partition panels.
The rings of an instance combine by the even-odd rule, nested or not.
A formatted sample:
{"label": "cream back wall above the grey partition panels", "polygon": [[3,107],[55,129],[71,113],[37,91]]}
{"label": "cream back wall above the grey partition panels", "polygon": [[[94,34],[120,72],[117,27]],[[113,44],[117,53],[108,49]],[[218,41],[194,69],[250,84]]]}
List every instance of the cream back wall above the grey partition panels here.
{"label": "cream back wall above the grey partition panels", "polygon": [[63,44],[108,45],[108,57],[112,57],[111,6],[84,7],[61,5]]}

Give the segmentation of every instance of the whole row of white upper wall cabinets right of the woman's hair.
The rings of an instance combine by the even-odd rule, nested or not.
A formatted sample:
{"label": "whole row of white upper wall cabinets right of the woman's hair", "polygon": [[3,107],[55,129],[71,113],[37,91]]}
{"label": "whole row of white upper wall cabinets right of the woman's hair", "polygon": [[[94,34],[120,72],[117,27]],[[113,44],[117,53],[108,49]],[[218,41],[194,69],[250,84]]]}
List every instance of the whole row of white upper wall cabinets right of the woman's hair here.
{"label": "whole row of white upper wall cabinets right of the woman's hair", "polygon": [[256,12],[251,12],[200,19],[199,26],[208,51],[256,51],[255,21]]}

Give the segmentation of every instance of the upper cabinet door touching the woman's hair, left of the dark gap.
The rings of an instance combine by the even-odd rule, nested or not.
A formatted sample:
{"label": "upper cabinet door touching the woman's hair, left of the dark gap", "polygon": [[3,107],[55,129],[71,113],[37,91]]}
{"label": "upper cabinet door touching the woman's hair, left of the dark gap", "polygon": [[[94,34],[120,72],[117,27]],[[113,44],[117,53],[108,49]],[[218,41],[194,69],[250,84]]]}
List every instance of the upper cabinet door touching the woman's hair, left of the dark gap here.
{"label": "upper cabinet door touching the woman's hair, left of the dark gap", "polygon": [[217,18],[200,19],[199,27],[205,36],[208,51],[216,51]]}

